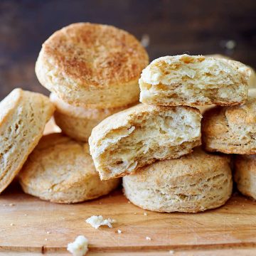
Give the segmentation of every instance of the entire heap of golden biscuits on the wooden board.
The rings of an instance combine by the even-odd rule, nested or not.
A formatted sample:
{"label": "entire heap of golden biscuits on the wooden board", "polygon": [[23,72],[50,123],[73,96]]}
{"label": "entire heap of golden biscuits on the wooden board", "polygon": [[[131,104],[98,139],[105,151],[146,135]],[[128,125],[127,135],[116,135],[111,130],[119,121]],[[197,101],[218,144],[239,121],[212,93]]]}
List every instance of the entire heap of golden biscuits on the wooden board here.
{"label": "entire heap of golden biscuits on the wooden board", "polygon": [[[251,69],[186,54],[148,63],[139,41],[112,26],[53,33],[36,62],[50,99],[16,89],[0,103],[0,193],[18,174],[26,193],[77,203],[123,177],[125,196],[141,208],[196,213],[228,201],[236,154],[238,189],[256,198]],[[206,105],[215,107],[202,119]],[[53,114],[62,133],[43,136]]]}

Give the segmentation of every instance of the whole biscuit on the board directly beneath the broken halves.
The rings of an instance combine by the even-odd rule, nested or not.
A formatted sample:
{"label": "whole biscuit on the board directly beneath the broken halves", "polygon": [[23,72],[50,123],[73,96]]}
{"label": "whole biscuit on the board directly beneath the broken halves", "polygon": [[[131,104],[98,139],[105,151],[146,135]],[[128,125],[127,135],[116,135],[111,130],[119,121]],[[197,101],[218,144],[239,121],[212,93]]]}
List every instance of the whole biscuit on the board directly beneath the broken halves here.
{"label": "whole biscuit on the board directly beneath the broken halves", "polygon": [[123,178],[129,201],[146,210],[197,213],[222,206],[233,181],[230,157],[200,148],[180,159],[158,161]]}

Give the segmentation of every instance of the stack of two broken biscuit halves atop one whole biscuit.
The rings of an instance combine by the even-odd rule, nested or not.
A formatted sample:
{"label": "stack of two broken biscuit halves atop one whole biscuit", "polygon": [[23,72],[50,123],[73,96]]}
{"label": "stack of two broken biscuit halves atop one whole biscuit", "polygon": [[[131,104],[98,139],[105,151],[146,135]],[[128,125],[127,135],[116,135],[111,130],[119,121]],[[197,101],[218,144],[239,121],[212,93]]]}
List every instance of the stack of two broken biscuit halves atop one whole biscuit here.
{"label": "stack of two broken biscuit halves atop one whole biscuit", "polygon": [[195,107],[245,104],[249,76],[242,63],[201,55],[151,62],[139,79],[143,104],[92,130],[90,152],[100,178],[124,176],[124,194],[147,210],[196,213],[222,206],[233,188],[230,156],[196,147],[201,114]]}

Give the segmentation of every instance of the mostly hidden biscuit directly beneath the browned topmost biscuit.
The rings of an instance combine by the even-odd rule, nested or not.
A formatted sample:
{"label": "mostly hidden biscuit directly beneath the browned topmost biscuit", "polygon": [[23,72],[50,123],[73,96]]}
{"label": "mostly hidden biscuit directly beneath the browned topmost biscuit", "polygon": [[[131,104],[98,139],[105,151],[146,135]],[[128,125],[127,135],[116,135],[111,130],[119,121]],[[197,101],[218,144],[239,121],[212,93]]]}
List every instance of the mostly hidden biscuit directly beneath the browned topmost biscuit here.
{"label": "mostly hidden biscuit directly beneath the browned topmost biscuit", "polygon": [[127,107],[114,107],[110,109],[88,109],[85,107],[75,107],[60,100],[53,93],[50,100],[56,107],[54,119],[63,133],[81,142],[87,142],[92,129],[103,119],[111,114],[125,110]]}

